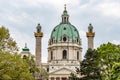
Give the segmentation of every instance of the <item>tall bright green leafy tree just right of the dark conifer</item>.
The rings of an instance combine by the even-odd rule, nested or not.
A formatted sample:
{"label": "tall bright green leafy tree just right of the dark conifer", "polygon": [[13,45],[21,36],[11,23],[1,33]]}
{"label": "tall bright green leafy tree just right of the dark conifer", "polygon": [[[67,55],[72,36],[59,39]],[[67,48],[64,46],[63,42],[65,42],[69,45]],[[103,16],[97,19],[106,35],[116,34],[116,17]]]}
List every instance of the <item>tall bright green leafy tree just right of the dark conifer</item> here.
{"label": "tall bright green leafy tree just right of the dark conifer", "polygon": [[99,53],[98,63],[101,68],[102,80],[110,80],[113,65],[120,62],[120,45],[108,42],[102,44],[97,51]]}

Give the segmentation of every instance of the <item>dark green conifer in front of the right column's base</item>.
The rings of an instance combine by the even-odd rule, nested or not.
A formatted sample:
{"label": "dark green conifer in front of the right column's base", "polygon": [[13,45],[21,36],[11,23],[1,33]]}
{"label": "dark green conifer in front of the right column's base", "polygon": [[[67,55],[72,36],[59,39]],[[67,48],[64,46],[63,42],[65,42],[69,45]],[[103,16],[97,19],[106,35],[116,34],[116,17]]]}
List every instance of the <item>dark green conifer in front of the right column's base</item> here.
{"label": "dark green conifer in front of the right column's base", "polygon": [[80,64],[80,73],[83,76],[80,80],[101,80],[98,57],[99,55],[96,50],[87,50],[85,59]]}

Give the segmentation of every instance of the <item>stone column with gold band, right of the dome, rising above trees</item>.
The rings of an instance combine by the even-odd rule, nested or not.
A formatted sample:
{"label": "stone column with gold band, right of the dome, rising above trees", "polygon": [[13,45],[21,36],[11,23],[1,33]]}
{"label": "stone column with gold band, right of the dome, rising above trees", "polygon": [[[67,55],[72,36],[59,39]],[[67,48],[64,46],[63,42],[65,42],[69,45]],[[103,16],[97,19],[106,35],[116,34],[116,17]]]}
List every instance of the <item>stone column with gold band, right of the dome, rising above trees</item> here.
{"label": "stone column with gold band, right of the dome, rising above trees", "polygon": [[89,24],[88,32],[86,32],[86,37],[88,38],[88,49],[94,49],[94,36],[95,32],[93,32],[93,26],[92,24]]}

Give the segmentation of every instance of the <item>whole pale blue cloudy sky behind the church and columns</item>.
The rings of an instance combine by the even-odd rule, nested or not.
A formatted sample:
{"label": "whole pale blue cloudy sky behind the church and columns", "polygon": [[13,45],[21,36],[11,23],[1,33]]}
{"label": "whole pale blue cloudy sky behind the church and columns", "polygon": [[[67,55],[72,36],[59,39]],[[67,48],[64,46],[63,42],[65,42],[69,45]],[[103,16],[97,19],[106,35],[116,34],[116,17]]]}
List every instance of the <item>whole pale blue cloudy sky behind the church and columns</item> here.
{"label": "whole pale blue cloudy sky behind the church and columns", "polygon": [[44,32],[42,61],[46,62],[48,40],[52,29],[61,22],[64,4],[67,4],[71,24],[76,26],[82,39],[83,56],[89,23],[96,32],[95,48],[107,42],[120,44],[120,0],[0,0],[0,26],[10,30],[20,51],[27,43],[34,54],[34,32],[40,23]]}

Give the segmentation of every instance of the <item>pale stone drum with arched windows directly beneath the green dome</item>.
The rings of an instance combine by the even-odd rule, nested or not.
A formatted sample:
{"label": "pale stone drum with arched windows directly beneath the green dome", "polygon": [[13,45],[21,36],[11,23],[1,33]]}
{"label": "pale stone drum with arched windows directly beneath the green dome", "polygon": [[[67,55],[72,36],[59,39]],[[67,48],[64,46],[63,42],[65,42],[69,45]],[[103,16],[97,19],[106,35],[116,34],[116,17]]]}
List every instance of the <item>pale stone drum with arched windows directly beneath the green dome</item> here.
{"label": "pale stone drum with arched windows directly beneath the green dome", "polygon": [[79,60],[82,59],[82,48],[80,45],[73,43],[69,43],[69,45],[68,43],[56,43],[48,47],[48,61],[51,61],[51,52],[53,53],[53,60],[62,60],[63,50],[67,51],[67,60],[77,60],[77,52],[79,52]]}

